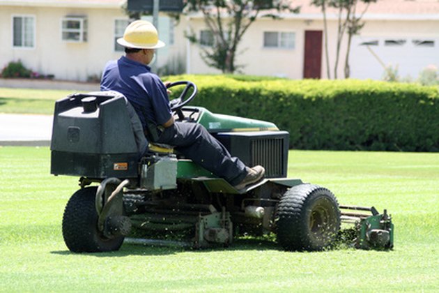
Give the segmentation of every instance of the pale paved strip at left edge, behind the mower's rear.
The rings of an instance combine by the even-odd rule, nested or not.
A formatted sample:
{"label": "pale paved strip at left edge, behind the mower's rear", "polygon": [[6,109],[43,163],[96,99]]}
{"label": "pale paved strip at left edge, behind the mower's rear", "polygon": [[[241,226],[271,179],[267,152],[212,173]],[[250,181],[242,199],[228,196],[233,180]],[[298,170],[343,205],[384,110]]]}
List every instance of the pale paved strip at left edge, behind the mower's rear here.
{"label": "pale paved strip at left edge, behind the mower's rear", "polygon": [[0,146],[48,146],[52,122],[49,115],[0,114]]}

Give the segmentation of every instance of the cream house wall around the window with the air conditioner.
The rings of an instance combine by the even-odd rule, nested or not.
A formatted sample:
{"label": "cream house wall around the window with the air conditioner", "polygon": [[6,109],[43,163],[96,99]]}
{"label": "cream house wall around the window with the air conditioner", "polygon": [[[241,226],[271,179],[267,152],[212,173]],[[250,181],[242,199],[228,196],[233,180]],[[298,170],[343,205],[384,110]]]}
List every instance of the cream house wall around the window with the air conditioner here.
{"label": "cream house wall around the window with the air conditioner", "polygon": [[[13,15],[36,17],[35,47],[13,47]],[[88,40],[68,43],[61,40],[61,20],[67,15],[85,15],[88,21]],[[0,9],[0,69],[10,61],[21,60],[26,68],[44,75],[53,74],[57,80],[86,81],[100,77],[111,59],[123,52],[114,51],[114,22],[128,19],[121,8],[66,8],[38,6],[1,6]],[[165,54],[157,58],[157,66],[168,60],[184,60],[182,36],[176,33],[174,45],[168,45]]]}

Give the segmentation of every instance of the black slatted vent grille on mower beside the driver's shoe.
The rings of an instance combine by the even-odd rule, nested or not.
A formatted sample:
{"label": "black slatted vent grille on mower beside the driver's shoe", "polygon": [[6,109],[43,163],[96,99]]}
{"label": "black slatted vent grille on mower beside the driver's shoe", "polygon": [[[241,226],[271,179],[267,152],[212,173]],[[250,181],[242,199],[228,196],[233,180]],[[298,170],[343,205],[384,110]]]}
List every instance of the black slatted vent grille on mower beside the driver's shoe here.
{"label": "black slatted vent grille on mower beside the driver's shoe", "polygon": [[256,139],[251,142],[252,163],[265,167],[265,177],[281,177],[284,174],[284,139]]}

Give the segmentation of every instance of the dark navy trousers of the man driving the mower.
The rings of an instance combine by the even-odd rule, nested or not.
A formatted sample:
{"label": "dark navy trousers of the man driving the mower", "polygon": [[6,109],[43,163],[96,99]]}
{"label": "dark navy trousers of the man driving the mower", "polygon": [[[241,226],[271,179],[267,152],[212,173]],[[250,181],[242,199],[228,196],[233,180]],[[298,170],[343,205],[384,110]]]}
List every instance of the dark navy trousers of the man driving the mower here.
{"label": "dark navy trousers of the man driving the mower", "polygon": [[174,146],[183,156],[226,179],[233,186],[247,175],[245,164],[232,157],[221,142],[198,123],[175,122],[162,130],[157,142]]}

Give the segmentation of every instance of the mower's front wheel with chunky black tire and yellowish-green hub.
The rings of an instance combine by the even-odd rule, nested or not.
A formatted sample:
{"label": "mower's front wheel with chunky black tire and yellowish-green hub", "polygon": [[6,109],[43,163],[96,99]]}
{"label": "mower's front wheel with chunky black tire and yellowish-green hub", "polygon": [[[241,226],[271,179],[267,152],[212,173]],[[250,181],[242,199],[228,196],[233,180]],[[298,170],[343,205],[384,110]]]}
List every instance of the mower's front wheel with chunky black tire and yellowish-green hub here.
{"label": "mower's front wheel with chunky black tire and yellowish-green hub", "polygon": [[285,250],[328,248],[339,230],[339,205],[330,190],[311,184],[286,190],[277,208],[277,241]]}

